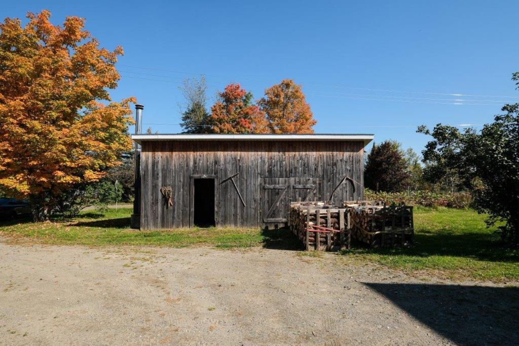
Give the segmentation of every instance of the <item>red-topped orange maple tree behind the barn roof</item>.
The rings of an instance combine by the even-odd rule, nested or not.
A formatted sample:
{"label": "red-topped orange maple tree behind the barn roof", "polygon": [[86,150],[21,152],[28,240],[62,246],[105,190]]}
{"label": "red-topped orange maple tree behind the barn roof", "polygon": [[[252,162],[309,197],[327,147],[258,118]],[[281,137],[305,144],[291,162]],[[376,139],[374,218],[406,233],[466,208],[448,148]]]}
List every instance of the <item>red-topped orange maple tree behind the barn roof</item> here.
{"label": "red-topped orange maple tree behind the barn roof", "polygon": [[208,118],[210,131],[216,134],[263,134],[268,132],[265,113],[252,104],[252,94],[240,84],[229,84],[219,94]]}

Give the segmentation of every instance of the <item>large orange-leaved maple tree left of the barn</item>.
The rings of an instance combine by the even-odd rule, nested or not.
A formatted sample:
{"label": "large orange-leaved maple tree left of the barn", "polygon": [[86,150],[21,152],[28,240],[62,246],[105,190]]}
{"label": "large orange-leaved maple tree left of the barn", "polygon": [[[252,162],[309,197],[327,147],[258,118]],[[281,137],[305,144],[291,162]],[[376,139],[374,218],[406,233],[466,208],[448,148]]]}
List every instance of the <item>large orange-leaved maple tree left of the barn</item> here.
{"label": "large orange-leaved maple tree left of the barn", "polygon": [[0,189],[42,220],[61,192],[99,180],[131,149],[135,99],[109,102],[123,51],[100,48],[83,18],[27,17],[0,24]]}

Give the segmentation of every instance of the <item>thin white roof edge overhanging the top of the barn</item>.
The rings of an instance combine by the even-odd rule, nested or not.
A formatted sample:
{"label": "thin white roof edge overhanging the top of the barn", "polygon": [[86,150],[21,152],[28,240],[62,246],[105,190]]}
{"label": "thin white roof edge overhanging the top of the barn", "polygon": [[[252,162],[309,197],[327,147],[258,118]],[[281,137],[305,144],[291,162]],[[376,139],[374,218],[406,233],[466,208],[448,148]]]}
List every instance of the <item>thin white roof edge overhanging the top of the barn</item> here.
{"label": "thin white roof edge overhanging the top of the barn", "polygon": [[366,134],[312,134],[312,135],[221,135],[221,134],[174,134],[174,135],[132,135],[137,142],[145,141],[356,141],[364,145],[373,140],[373,135]]}

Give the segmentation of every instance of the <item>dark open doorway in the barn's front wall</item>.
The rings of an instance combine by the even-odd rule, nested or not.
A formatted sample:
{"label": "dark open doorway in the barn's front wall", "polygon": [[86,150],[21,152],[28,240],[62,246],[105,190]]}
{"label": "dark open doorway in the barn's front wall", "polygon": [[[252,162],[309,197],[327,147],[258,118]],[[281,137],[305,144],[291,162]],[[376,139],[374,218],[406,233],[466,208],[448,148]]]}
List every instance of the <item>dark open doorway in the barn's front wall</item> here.
{"label": "dark open doorway in the barn's front wall", "polygon": [[211,227],[214,222],[214,179],[194,179],[193,224]]}

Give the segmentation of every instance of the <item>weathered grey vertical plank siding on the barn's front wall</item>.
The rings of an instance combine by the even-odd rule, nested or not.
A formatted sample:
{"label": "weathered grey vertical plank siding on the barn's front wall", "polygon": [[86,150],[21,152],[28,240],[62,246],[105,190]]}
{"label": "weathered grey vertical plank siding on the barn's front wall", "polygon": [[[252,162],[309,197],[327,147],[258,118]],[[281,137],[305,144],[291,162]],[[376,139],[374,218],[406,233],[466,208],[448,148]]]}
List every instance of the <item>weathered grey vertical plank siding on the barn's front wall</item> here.
{"label": "weathered grey vertical plank siding on the barn's front wall", "polygon": [[[334,202],[363,198],[364,144],[361,141],[143,141],[141,155],[141,229],[189,227],[192,222],[193,177],[215,179],[217,226],[263,225],[262,215],[275,194],[264,185],[285,185],[279,198],[281,214],[290,200],[327,199],[348,176],[359,184],[353,193],[345,182]],[[240,197],[230,180],[234,181]],[[317,185],[315,191],[310,187]],[[173,206],[164,203],[160,188],[171,186]],[[277,190],[281,191],[281,190]],[[266,199],[266,200],[265,200]],[[281,217],[275,211],[272,218]]]}

